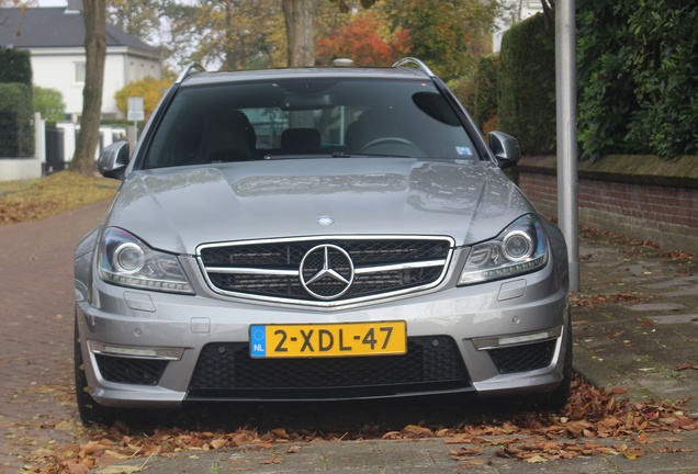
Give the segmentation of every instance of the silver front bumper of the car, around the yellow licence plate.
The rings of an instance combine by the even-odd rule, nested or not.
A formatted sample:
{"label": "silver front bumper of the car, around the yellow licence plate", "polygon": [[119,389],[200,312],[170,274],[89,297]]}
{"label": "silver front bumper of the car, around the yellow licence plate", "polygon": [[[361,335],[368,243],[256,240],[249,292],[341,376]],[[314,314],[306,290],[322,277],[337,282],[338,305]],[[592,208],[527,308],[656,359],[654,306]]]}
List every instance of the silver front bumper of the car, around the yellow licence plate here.
{"label": "silver front bumper of the car, around the yellow licence plate", "polygon": [[[562,381],[567,296],[551,264],[465,287],[448,286],[450,280],[429,293],[339,309],[227,298],[203,284],[188,296],[95,280],[89,295],[78,293],[77,311],[90,394],[105,406],[167,407],[206,399],[513,395],[545,392]],[[250,325],[386,320],[406,321],[413,359],[246,357]],[[394,375],[417,363],[415,358],[420,379]],[[359,373],[357,364],[369,368]],[[353,379],[335,381],[351,371]],[[248,382],[235,381],[236,373],[246,373]],[[285,382],[277,383],[281,379]]]}

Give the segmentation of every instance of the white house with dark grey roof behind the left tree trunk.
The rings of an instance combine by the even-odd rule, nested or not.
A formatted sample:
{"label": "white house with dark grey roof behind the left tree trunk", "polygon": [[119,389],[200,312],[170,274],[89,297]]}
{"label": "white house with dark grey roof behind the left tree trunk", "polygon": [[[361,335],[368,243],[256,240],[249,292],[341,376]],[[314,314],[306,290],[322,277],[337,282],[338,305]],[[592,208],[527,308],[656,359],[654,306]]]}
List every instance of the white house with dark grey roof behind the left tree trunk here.
{"label": "white house with dark grey roof behind the left tree trunk", "polygon": [[[67,7],[0,8],[0,45],[29,49],[34,84],[63,92],[66,113],[77,120],[86,70],[81,0],[68,0]],[[108,24],[102,116],[122,116],[114,93],[148,76],[159,79],[160,72],[156,47]]]}

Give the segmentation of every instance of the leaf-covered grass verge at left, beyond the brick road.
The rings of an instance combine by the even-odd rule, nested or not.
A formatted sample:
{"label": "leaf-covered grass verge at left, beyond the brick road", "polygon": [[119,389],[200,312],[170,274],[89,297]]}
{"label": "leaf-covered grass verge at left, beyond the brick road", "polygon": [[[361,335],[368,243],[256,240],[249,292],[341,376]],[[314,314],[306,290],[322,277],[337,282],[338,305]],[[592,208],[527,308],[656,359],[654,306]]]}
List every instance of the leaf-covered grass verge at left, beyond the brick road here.
{"label": "leaf-covered grass verge at left, beyond the brick road", "polygon": [[112,199],[119,181],[60,171],[46,178],[0,183],[0,225],[37,221]]}

